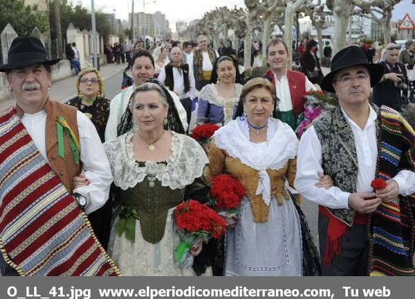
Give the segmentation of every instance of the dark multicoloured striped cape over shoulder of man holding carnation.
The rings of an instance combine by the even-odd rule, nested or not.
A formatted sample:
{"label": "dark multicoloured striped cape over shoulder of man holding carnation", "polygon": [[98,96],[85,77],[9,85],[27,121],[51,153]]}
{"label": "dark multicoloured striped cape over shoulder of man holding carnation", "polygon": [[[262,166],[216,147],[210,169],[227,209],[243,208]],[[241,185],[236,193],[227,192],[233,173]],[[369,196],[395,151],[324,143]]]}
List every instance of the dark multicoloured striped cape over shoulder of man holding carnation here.
{"label": "dark multicoloured striped cape over shoulder of man holding carnation", "polygon": [[[414,170],[415,132],[398,112],[382,106],[376,176],[393,178],[400,170]],[[371,216],[369,228],[369,274],[415,275],[415,196],[399,196],[381,203]]]}

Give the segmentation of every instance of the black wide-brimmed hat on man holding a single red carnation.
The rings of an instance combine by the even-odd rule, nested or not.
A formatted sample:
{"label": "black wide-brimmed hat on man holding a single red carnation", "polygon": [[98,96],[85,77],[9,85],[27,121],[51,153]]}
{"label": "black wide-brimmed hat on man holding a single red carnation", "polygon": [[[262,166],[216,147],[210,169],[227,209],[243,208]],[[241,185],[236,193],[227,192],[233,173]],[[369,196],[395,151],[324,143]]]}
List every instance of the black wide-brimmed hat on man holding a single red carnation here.
{"label": "black wide-brimmed hat on man holding a single red carnation", "polygon": [[334,55],[333,60],[331,60],[331,72],[324,76],[320,87],[324,91],[334,93],[334,74],[348,66],[365,66],[370,73],[371,87],[374,87],[382,79],[383,66],[381,64],[369,64],[361,48],[358,46],[348,46]]}

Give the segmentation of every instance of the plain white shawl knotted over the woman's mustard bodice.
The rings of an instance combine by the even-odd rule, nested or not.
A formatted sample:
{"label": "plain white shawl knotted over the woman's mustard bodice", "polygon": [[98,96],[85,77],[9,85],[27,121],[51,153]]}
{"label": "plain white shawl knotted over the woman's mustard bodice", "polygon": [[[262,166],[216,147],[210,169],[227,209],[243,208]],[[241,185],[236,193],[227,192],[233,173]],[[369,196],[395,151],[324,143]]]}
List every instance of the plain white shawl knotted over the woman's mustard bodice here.
{"label": "plain white shawl knotted over the woman's mustard bodice", "polygon": [[279,170],[295,158],[298,151],[297,136],[290,126],[281,120],[270,118],[267,129],[267,147],[258,152],[255,143],[249,139],[249,127],[246,119],[237,118],[214,133],[214,143],[225,149],[233,158],[259,172],[257,194],[262,194],[264,202],[269,205],[271,197],[270,177],[267,169]]}

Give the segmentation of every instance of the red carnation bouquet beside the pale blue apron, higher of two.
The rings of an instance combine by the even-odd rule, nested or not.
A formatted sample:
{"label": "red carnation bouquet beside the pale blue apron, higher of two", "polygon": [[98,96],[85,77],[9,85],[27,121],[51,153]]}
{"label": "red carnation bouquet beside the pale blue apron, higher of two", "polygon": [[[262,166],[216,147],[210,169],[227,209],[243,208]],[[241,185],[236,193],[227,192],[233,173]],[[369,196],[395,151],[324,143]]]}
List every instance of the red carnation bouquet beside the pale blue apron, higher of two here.
{"label": "red carnation bouquet beside the pale blue apron, higher of two", "polygon": [[245,189],[229,174],[219,174],[210,179],[210,205],[219,215],[232,217],[238,214]]}

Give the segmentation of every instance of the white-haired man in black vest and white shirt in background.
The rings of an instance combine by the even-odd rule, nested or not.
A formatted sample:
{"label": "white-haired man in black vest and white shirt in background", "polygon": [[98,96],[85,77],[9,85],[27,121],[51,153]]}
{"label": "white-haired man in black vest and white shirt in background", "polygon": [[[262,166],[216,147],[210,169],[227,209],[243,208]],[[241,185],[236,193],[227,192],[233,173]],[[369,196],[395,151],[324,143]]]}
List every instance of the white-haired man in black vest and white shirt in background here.
{"label": "white-haired man in black vest and white shirt in background", "polygon": [[189,64],[183,63],[183,51],[178,46],[172,48],[170,57],[170,63],[162,69],[158,80],[177,94],[186,110],[187,125],[190,125],[192,99],[196,97],[193,71],[189,68]]}

